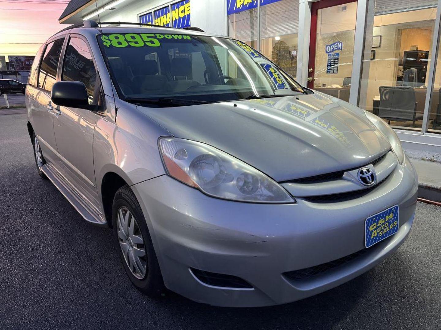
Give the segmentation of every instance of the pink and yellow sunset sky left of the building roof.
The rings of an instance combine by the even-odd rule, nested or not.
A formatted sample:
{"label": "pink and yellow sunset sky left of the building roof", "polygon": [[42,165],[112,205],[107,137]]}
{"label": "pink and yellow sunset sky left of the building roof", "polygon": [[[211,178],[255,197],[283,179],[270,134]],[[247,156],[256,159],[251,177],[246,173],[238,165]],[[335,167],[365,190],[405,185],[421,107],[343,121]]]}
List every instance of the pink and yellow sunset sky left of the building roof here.
{"label": "pink and yellow sunset sky left of the building roof", "polygon": [[0,55],[35,55],[40,45],[67,27],[58,18],[69,0],[0,0]]}

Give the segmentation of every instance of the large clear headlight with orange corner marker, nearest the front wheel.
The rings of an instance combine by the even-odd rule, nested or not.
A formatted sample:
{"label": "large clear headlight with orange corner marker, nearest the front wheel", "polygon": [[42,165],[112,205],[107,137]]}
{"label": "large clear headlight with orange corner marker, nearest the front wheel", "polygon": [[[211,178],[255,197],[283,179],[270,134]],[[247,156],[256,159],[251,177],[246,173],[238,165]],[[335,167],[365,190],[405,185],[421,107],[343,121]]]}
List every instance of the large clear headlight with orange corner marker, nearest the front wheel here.
{"label": "large clear headlight with orange corner marker, nearest the front wheel", "polygon": [[205,143],[161,138],[159,147],[168,174],[207,195],[241,202],[295,202],[262,172]]}

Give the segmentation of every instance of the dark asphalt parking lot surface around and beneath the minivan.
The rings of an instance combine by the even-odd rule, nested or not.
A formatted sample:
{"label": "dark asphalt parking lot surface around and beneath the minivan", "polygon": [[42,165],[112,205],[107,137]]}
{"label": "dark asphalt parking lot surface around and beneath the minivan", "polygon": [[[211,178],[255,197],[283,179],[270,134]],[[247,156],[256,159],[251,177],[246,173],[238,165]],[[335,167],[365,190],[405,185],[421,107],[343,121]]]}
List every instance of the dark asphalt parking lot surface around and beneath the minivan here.
{"label": "dark asphalt parking lot surface around and beneath the minivan", "polygon": [[216,308],[131,285],[111,231],[35,169],[24,109],[0,110],[0,329],[441,329],[441,208],[366,274],[267,308]]}

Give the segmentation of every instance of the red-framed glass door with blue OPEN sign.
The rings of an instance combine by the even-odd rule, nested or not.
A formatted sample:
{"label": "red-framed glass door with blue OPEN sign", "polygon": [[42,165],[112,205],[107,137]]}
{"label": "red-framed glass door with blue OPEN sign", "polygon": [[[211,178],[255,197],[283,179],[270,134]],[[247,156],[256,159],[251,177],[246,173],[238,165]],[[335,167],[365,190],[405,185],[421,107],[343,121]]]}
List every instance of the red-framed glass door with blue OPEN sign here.
{"label": "red-framed glass door with blue OPEN sign", "polygon": [[308,87],[349,102],[357,1],[312,4]]}

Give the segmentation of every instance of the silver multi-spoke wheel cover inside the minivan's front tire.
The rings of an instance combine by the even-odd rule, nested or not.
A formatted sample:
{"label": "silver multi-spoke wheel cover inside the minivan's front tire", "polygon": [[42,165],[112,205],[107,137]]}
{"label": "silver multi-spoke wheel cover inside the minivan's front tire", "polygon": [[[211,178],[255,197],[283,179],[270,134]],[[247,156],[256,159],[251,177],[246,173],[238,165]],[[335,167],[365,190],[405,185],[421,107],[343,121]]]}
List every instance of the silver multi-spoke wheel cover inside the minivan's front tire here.
{"label": "silver multi-spoke wheel cover inside the minivan's front tire", "polygon": [[118,241],[127,266],[137,279],[143,279],[147,272],[146,244],[135,216],[127,207],[118,209],[116,226]]}

